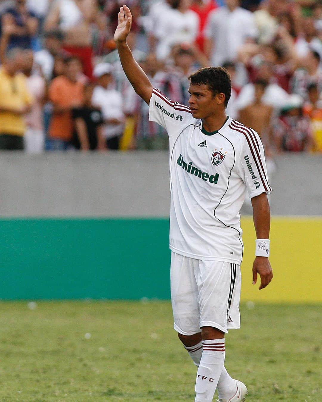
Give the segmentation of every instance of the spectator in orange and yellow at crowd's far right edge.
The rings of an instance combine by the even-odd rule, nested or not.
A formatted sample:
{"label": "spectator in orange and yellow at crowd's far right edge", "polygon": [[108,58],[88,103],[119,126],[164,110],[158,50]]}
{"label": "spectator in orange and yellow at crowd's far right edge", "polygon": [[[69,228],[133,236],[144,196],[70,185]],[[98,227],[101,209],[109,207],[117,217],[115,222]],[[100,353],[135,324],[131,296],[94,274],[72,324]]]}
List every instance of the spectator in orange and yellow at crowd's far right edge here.
{"label": "spectator in orange and yellow at crowd's far right edge", "polygon": [[307,115],[312,123],[314,139],[314,152],[322,152],[322,100],[319,98],[318,86],[310,84],[308,86],[309,102],[304,106],[304,114]]}

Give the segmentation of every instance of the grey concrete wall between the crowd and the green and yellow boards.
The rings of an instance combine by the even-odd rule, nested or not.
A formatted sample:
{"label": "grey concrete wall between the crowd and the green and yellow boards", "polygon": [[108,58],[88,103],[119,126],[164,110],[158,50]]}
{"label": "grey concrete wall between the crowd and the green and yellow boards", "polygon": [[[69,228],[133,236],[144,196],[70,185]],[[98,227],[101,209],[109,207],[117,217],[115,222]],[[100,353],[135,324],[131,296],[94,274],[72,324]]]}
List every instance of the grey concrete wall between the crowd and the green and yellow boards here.
{"label": "grey concrete wall between the crowd and the green and yellow boards", "polygon": [[[276,159],[273,215],[320,215],[322,158]],[[0,154],[5,217],[167,217],[167,152]]]}

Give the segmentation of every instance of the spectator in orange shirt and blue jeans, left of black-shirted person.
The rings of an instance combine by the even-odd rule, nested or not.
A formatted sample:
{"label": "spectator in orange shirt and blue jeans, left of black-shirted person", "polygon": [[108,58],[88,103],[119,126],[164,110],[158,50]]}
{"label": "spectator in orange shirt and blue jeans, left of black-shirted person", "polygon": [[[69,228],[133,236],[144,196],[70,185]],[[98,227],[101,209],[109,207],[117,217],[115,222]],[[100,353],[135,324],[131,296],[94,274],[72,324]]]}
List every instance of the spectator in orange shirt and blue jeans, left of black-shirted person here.
{"label": "spectator in orange shirt and blue jeans, left of black-shirted person", "polygon": [[64,74],[54,78],[49,87],[49,99],[54,106],[49,136],[52,149],[66,150],[71,147],[74,125],[72,109],[79,107],[83,101],[83,82],[78,80],[80,64],[76,57],[64,60]]}

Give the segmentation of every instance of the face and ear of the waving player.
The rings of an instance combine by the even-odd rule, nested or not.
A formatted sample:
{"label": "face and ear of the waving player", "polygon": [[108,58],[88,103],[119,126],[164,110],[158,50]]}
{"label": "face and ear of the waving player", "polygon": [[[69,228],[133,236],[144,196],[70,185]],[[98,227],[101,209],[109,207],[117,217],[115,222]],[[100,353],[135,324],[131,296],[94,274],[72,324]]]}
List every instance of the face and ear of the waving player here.
{"label": "face and ear of the waving player", "polygon": [[223,93],[214,96],[208,85],[189,86],[189,107],[195,119],[206,119],[222,111],[225,102]]}

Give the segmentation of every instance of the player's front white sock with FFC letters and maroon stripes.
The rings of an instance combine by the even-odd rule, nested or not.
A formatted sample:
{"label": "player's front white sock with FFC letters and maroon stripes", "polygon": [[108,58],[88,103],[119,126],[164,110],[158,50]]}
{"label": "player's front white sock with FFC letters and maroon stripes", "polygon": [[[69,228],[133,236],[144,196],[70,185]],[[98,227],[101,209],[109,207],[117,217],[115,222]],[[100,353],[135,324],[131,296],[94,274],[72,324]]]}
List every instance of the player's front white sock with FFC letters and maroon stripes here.
{"label": "player's front white sock with FFC letters and maroon stripes", "polygon": [[212,402],[225,361],[225,339],[202,341],[195,402]]}

